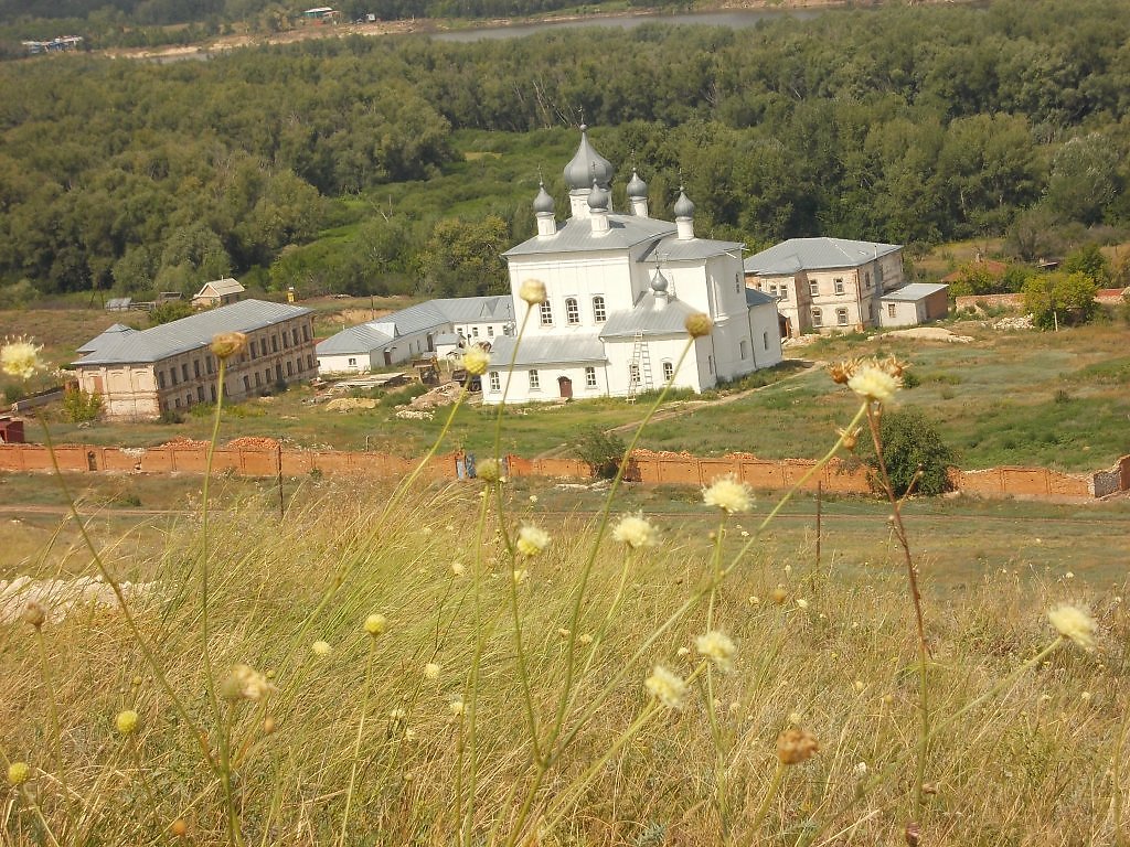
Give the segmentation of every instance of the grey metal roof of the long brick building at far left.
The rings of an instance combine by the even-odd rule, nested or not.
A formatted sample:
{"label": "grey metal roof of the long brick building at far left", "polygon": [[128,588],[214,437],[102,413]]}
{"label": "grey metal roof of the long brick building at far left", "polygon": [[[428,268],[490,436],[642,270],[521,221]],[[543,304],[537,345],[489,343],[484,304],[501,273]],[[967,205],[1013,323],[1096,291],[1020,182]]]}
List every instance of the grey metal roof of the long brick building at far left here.
{"label": "grey metal roof of the long brick building at far left", "polygon": [[211,343],[212,335],[220,332],[252,332],[305,314],[310,314],[305,306],[241,300],[140,332],[119,333],[116,341],[99,347],[72,364],[82,367],[160,361],[169,356],[207,347]]}

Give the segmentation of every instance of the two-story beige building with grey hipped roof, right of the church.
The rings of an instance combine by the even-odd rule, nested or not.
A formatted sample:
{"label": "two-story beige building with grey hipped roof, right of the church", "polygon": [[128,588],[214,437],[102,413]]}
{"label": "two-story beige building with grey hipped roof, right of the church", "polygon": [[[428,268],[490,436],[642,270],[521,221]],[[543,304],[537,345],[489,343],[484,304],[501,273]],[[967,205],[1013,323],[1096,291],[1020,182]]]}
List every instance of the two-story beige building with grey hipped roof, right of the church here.
{"label": "two-story beige building with grey hipped roof, right of the church", "polygon": [[846,238],[790,238],[745,269],[746,285],[776,300],[786,338],[879,326],[883,295],[904,282],[901,245]]}

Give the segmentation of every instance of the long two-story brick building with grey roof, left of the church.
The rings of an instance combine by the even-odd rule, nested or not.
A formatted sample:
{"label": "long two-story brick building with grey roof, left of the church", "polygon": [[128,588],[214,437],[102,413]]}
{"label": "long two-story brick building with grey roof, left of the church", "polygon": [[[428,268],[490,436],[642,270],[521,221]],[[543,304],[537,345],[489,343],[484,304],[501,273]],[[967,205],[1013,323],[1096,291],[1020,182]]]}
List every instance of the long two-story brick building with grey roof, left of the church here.
{"label": "long two-story brick building with grey roof, left of the church", "polygon": [[79,387],[102,396],[103,414],[153,420],[162,412],[216,402],[219,363],[209,349],[221,332],[247,335],[229,359],[224,394],[242,400],[318,375],[313,313],[303,306],[242,300],[148,330],[115,324],[79,349]]}

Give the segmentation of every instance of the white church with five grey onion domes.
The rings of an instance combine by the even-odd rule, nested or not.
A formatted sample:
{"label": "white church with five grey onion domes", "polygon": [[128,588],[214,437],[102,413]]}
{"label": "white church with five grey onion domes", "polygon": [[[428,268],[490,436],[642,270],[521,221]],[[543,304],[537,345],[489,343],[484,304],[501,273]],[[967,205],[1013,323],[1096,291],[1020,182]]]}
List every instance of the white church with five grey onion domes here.
{"label": "white church with five grey onion domes", "polygon": [[[515,318],[527,280],[548,300],[527,318],[521,341],[496,337],[483,383],[485,403],[634,396],[662,387],[702,392],[782,359],[776,300],[747,288],[739,242],[695,236],[695,207],[680,191],[675,224],[647,213],[647,185],[633,171],[631,209],[610,208],[614,168],[589,143],[565,167],[570,216],[558,221],[542,185],[533,201],[538,234],[504,255]],[[714,323],[687,356],[687,315]],[[515,355],[514,344],[518,343]],[[513,366],[511,366],[513,363]]]}

